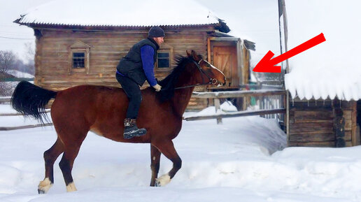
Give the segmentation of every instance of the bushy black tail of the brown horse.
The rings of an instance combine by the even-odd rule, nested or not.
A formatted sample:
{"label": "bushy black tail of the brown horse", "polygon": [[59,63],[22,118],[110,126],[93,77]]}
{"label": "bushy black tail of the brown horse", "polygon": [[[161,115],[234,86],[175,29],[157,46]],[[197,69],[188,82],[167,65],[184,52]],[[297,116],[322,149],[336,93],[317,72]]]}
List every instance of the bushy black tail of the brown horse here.
{"label": "bushy black tail of the brown horse", "polygon": [[57,92],[43,89],[30,82],[21,81],[15,88],[11,97],[11,105],[24,116],[36,118],[41,123],[48,120],[45,106],[50,99],[55,98]]}

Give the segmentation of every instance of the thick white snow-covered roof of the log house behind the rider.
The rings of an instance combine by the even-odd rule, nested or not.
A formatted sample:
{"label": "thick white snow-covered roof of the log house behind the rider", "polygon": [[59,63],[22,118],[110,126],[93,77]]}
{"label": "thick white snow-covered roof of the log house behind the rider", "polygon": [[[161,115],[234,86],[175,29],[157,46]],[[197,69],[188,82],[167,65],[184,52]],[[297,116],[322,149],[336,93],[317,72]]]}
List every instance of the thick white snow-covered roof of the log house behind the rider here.
{"label": "thick white snow-covered roof of the log house behind the rider", "polygon": [[149,27],[216,24],[218,19],[193,0],[56,0],[27,10],[17,23]]}

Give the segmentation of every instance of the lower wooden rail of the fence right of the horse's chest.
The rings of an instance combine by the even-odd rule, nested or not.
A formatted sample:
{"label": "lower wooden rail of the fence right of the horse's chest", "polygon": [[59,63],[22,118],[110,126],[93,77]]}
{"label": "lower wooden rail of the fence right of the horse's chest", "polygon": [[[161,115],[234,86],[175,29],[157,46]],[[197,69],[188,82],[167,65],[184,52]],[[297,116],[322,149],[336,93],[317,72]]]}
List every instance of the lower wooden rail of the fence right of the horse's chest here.
{"label": "lower wooden rail of the fence right of the horse's chest", "polygon": [[216,118],[230,118],[230,117],[243,117],[243,116],[253,116],[253,115],[269,115],[269,114],[280,114],[285,113],[285,108],[274,109],[274,110],[254,110],[254,111],[241,111],[236,113],[225,113],[220,115],[205,115],[205,116],[196,116],[196,117],[185,117],[187,121],[193,120],[211,120]]}

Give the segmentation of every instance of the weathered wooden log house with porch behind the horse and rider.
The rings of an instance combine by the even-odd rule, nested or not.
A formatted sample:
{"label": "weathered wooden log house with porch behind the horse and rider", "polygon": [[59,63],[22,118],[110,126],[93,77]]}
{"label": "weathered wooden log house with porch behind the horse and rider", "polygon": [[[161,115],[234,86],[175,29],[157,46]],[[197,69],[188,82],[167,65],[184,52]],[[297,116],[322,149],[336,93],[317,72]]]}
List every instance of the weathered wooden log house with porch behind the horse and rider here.
{"label": "weathered wooden log house with porch behind the horse and rider", "polygon": [[[117,4],[120,1],[107,0],[107,2]],[[85,2],[84,5],[86,4]],[[154,4],[157,5],[157,2]],[[99,6],[101,7],[100,4]],[[164,3],[164,6],[167,6],[167,3]],[[164,8],[164,6],[162,9],[171,10],[176,13],[175,15],[181,12],[180,8]],[[156,21],[151,24],[129,24],[122,20],[118,24],[108,21],[103,21],[102,24],[96,22],[82,24],[81,21],[71,24],[66,23],[66,20],[62,22],[57,21],[59,19],[52,20],[54,18],[52,16],[48,16],[47,19],[46,15],[45,17],[41,15],[41,10],[56,15],[57,9],[59,10],[56,4],[48,3],[14,21],[34,29],[36,36],[34,83],[38,86],[55,90],[83,84],[120,87],[115,80],[115,67],[134,43],[148,36],[148,29],[153,25],[162,27],[166,35],[157,55],[156,78],[165,78],[170,73],[176,65],[177,55],[184,56],[186,50],[195,50],[225,73],[227,85],[223,89],[238,89],[239,85],[248,83],[249,50],[254,50],[254,43],[229,36],[227,24],[218,18],[209,20],[208,13],[204,13],[203,16],[208,18],[207,23],[204,23],[204,19],[194,17],[192,23],[172,24],[174,23],[172,16],[161,16],[169,18],[168,25]],[[128,9],[129,13],[132,13],[136,5]],[[197,8],[198,14],[200,10]],[[145,14],[144,17],[146,16],[148,15]],[[114,14],[113,17],[118,16]],[[118,17],[118,19],[122,18]],[[148,84],[143,87],[146,86]],[[212,89],[202,86],[197,87],[196,90],[206,92]],[[206,99],[192,99],[188,109],[199,110],[207,105]]]}

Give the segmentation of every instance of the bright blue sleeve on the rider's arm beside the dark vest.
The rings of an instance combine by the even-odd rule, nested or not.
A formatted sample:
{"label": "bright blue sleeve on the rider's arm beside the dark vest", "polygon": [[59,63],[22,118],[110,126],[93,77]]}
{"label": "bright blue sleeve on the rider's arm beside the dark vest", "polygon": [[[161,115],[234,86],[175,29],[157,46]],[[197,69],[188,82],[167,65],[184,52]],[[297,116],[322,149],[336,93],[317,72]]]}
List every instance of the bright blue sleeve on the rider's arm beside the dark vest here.
{"label": "bright blue sleeve on the rider's arm beside the dark vest", "polygon": [[146,73],[147,80],[150,86],[157,85],[157,80],[154,76],[154,49],[150,45],[144,45],[141,48],[141,62],[143,63],[143,70]]}

